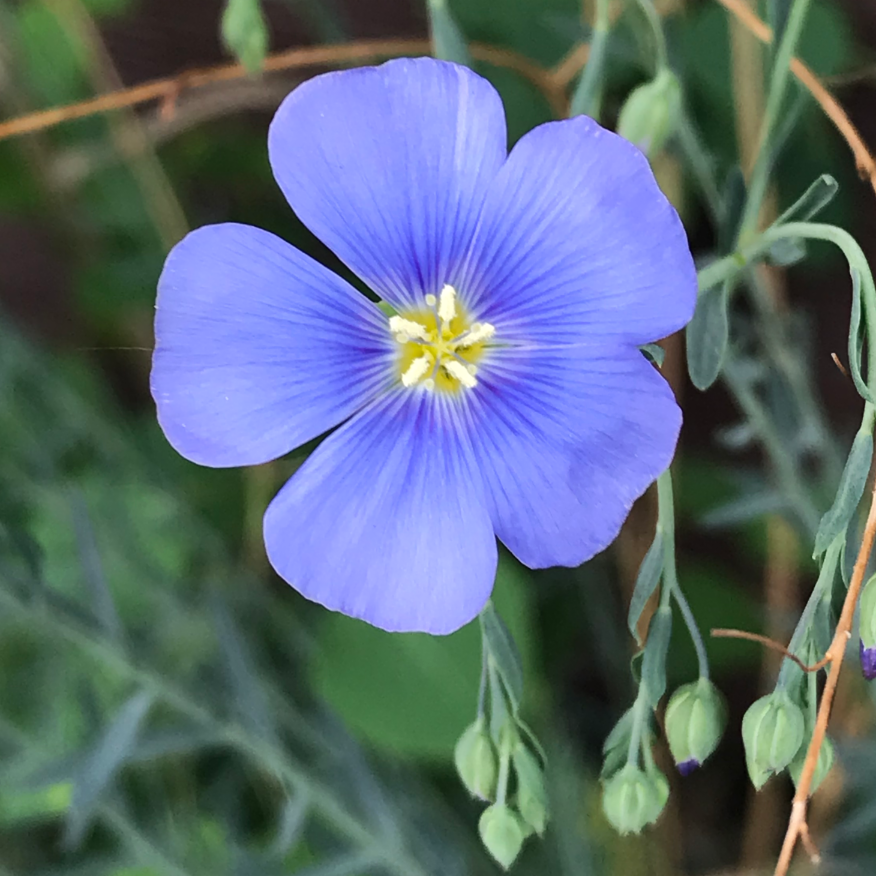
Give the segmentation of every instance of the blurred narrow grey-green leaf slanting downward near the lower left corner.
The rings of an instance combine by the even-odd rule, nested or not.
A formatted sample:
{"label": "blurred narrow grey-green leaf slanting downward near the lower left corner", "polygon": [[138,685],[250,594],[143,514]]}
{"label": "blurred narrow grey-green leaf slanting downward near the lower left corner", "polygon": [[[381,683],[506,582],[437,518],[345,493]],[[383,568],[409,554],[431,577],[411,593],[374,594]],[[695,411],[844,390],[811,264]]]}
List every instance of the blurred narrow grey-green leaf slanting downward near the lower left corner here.
{"label": "blurred narrow grey-green leaf slanting downward near the lower left corner", "polygon": [[100,797],[133,753],[137,734],[151,705],[151,693],[141,691],[134,694],[119,709],[113,722],[85,758],[73,785],[73,796],[64,825],[65,848],[76,848],[82,841]]}

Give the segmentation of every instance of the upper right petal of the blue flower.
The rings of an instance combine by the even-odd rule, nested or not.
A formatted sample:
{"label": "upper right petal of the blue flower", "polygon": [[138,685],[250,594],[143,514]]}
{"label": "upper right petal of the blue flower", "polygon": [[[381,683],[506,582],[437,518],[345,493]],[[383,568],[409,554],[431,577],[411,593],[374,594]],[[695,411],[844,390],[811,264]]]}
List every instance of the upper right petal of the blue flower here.
{"label": "upper right petal of the blue flower", "polygon": [[516,342],[659,340],[693,315],[678,214],[648,162],[586,116],[514,147],[484,205],[461,295]]}

